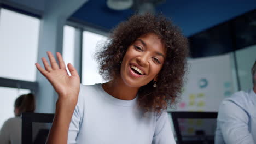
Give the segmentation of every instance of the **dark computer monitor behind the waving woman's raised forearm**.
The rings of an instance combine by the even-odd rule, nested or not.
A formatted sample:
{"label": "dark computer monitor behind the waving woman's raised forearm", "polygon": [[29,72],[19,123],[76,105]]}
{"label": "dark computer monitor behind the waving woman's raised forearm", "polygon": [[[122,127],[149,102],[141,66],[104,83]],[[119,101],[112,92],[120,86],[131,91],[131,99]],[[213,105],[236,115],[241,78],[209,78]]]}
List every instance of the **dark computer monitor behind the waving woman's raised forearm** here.
{"label": "dark computer monitor behind the waving woman's raised forearm", "polygon": [[54,114],[22,113],[22,144],[45,143],[48,137]]}

